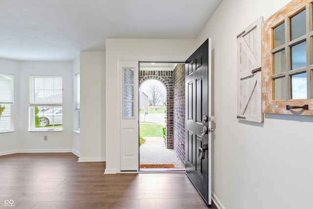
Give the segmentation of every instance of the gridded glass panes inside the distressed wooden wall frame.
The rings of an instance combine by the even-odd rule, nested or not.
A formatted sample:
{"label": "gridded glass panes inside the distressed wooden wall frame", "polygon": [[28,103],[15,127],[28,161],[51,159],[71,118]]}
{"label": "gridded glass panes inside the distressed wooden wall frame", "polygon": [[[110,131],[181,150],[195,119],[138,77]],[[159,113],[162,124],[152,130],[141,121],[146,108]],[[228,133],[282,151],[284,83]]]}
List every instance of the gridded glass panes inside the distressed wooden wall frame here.
{"label": "gridded glass panes inside the distressed wooden wall frame", "polygon": [[[312,5],[272,28],[273,70],[271,78],[274,100],[313,98],[312,76],[309,76],[312,74],[309,67],[313,65],[313,34],[311,32],[312,24],[307,24],[308,21],[312,22],[313,17],[308,15],[307,10],[310,10],[310,14],[312,14]],[[308,14],[306,15],[306,13]],[[284,26],[285,31],[283,31]],[[299,76],[300,73],[301,76]],[[285,87],[285,90],[282,90],[282,87]],[[284,93],[286,98],[282,95]]]}

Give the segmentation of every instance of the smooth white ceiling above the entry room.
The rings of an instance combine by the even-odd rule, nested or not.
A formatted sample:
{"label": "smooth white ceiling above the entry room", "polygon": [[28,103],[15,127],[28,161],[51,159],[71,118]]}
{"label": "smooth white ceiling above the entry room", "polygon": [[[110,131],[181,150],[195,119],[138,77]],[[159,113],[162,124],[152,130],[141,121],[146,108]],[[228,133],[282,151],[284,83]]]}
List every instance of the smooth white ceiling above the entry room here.
{"label": "smooth white ceiling above the entry room", "polygon": [[71,61],[106,38],[195,39],[222,0],[0,0],[0,57]]}

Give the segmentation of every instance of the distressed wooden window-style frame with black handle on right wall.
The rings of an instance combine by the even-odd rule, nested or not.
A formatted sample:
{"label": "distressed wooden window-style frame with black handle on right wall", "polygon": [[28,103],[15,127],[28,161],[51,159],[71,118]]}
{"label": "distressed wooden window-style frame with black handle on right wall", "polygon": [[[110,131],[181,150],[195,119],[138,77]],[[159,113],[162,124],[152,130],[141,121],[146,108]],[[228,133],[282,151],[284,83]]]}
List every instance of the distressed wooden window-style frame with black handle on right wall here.
{"label": "distressed wooden window-style frame with black handle on right wall", "polygon": [[[292,31],[298,30],[299,26],[292,21],[300,13],[304,20],[303,34],[292,37]],[[284,30],[280,32],[284,34],[282,39],[277,38],[278,27]],[[293,49],[299,44],[302,44],[303,48],[306,47],[306,50],[302,50],[302,58],[306,59],[306,63],[300,67],[293,67],[292,59],[295,58],[292,53],[299,54],[296,50],[293,52]],[[280,56],[278,53],[281,53]],[[275,70],[279,68],[280,70]],[[303,77],[306,76],[303,80],[307,88],[304,88],[306,93],[303,95],[307,95],[297,98],[292,90],[295,89],[295,82],[292,79],[301,74]],[[291,0],[263,23],[262,97],[262,108],[266,114],[313,116],[313,0]]]}

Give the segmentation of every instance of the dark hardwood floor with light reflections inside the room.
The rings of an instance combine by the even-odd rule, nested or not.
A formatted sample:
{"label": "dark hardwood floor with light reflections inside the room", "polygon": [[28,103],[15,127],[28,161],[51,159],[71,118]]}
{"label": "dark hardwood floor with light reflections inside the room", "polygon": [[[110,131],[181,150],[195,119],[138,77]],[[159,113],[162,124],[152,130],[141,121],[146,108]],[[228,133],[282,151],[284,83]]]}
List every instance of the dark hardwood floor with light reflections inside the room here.
{"label": "dark hardwood floor with light reflections inside the room", "polygon": [[72,153],[0,156],[0,208],[216,209],[184,173],[103,174]]}

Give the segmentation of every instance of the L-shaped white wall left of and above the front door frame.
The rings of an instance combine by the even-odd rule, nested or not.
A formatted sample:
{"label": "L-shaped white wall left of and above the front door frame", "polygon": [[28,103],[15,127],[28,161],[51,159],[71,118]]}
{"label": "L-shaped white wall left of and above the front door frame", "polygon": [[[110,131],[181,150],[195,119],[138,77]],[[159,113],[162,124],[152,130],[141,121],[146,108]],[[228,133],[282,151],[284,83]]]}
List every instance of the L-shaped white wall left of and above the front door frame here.
{"label": "L-shaped white wall left of and above the front door frame", "polygon": [[196,46],[196,40],[106,39],[106,170],[119,172],[117,153],[117,62],[118,59],[139,61],[185,61]]}

